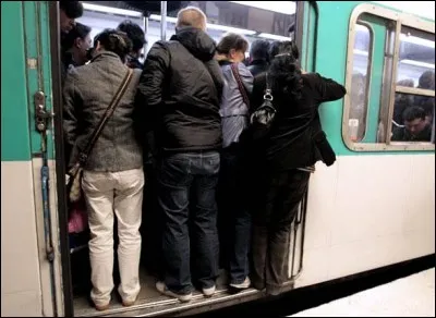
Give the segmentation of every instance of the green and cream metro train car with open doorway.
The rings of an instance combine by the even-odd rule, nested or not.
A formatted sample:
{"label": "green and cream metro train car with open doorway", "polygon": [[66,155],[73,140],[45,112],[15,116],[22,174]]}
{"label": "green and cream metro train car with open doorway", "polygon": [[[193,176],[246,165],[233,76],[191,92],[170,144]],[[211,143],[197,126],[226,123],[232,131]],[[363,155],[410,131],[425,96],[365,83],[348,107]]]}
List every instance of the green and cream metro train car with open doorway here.
{"label": "green and cream metro train car with open doorway", "polygon": [[[434,255],[434,1],[171,2],[85,1],[77,21],[92,36],[136,22],[147,35],[146,58],[174,33],[178,10],[195,5],[214,39],[229,30],[250,42],[292,38],[306,72],[347,88],[344,99],[320,107],[337,161],[317,163],[311,176],[292,224],[283,293]],[[1,316],[183,316],[266,297],[254,289],[230,293],[222,272],[213,297],[196,292],[180,303],[160,295],[141,266],[133,306],[112,297],[105,311],[92,307],[89,290],[75,289],[89,280],[77,268],[84,260],[73,261],[86,244],[71,248],[68,231],[59,1],[2,1],[1,44]],[[433,86],[422,85],[432,74]],[[404,96],[433,102],[428,140],[392,140],[395,129],[407,129],[393,120]]]}

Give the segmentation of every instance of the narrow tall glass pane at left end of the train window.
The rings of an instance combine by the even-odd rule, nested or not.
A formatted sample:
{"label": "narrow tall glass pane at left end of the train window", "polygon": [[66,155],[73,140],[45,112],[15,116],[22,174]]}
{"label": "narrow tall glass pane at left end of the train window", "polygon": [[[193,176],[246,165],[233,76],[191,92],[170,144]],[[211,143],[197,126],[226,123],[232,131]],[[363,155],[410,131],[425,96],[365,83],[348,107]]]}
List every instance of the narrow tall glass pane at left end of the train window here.
{"label": "narrow tall glass pane at left end of the train window", "polygon": [[349,136],[353,142],[361,142],[366,132],[371,40],[370,28],[358,24],[353,50],[353,75],[349,117]]}

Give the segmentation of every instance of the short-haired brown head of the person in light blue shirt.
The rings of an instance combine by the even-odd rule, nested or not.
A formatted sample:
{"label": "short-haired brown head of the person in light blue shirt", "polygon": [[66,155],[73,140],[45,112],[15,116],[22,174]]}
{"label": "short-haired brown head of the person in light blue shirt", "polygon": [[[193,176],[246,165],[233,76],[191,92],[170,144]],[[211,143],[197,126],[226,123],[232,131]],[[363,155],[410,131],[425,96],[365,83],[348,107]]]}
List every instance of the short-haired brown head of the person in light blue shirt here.
{"label": "short-haired brown head of the person in light blue shirt", "polygon": [[231,62],[244,61],[249,41],[235,33],[225,34],[217,45],[217,53]]}

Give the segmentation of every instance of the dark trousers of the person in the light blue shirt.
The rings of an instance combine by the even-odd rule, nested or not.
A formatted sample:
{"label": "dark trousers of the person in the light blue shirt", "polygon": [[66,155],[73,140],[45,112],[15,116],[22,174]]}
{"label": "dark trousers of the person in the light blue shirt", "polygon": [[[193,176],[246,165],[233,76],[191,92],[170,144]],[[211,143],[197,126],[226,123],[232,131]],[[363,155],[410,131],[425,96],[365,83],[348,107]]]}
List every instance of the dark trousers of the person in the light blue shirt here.
{"label": "dark trousers of the person in the light blue shirt", "polygon": [[222,149],[219,179],[219,225],[223,266],[230,283],[240,284],[249,276],[252,218],[246,206],[243,148],[233,144]]}

